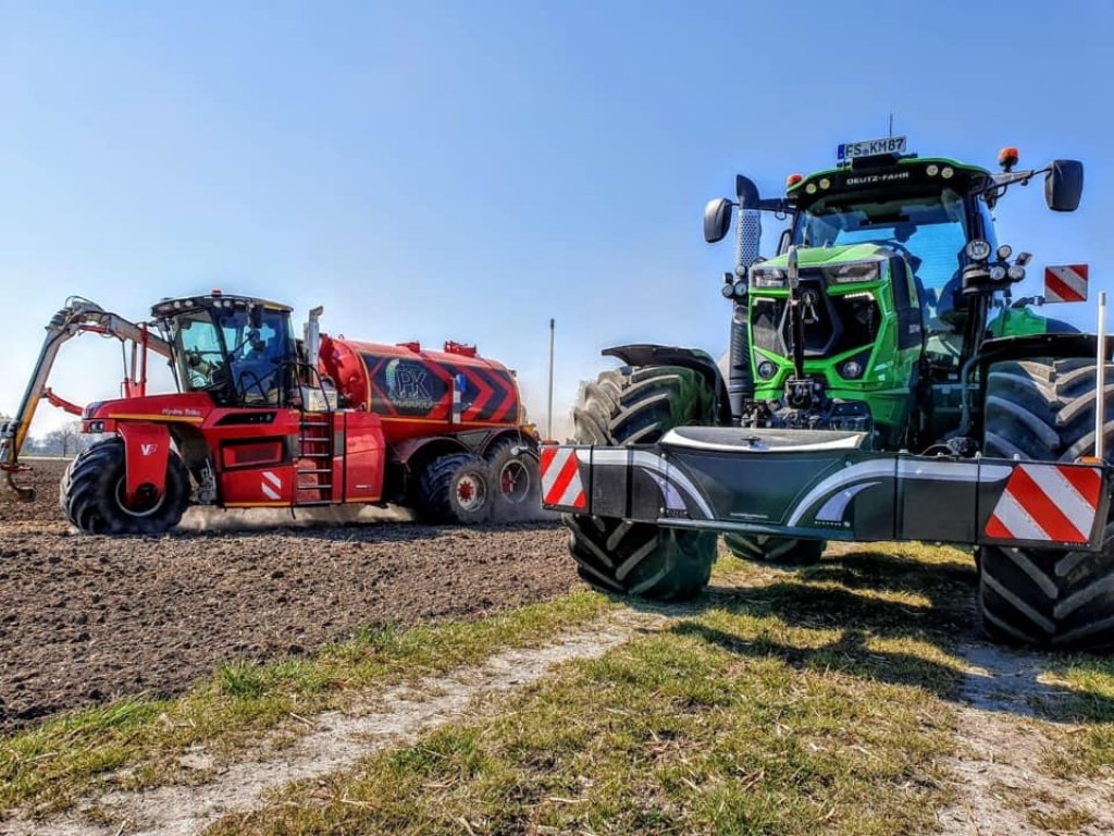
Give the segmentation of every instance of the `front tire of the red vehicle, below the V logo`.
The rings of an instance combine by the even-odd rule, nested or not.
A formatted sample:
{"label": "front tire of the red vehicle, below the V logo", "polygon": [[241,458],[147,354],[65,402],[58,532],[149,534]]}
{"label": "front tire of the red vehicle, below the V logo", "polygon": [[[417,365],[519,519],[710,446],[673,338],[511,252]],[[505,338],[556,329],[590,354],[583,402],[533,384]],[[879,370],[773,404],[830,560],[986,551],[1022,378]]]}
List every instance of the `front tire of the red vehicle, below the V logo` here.
{"label": "front tire of the red vehicle, below the V logo", "polygon": [[157,497],[125,502],[124,440],[108,438],[80,454],[62,476],[60,496],[66,517],[85,534],[164,534],[176,526],[189,504],[189,475],[170,451],[166,486]]}

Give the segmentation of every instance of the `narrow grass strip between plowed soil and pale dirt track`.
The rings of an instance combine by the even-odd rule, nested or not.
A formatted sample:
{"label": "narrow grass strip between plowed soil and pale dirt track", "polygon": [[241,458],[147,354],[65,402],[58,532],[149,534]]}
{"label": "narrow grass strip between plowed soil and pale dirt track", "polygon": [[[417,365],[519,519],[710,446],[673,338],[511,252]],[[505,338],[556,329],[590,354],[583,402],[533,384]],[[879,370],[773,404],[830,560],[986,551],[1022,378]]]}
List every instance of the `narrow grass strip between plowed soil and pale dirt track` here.
{"label": "narrow grass strip between plowed soil and pale dirt track", "polygon": [[192,747],[207,747],[219,761],[261,731],[300,733],[297,716],[476,664],[504,648],[536,647],[612,605],[575,592],[481,621],[368,629],[312,658],[229,663],[178,699],[138,697],[57,718],[0,739],[0,814],[17,806],[57,811],[123,768],[127,775],[115,780],[128,787],[197,780],[204,774],[177,760]]}

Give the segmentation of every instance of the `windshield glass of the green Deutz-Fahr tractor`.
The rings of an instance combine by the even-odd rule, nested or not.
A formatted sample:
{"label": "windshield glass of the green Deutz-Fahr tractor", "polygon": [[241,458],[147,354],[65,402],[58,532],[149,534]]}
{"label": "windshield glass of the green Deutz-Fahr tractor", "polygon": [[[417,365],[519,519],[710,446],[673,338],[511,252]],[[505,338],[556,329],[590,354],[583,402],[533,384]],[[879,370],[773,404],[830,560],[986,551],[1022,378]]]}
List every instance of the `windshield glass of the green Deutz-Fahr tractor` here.
{"label": "windshield glass of the green Deutz-Fahr tractor", "polygon": [[929,360],[959,361],[954,292],[959,288],[967,210],[951,189],[927,194],[833,194],[804,207],[793,230],[800,246],[876,243],[905,256],[917,284]]}

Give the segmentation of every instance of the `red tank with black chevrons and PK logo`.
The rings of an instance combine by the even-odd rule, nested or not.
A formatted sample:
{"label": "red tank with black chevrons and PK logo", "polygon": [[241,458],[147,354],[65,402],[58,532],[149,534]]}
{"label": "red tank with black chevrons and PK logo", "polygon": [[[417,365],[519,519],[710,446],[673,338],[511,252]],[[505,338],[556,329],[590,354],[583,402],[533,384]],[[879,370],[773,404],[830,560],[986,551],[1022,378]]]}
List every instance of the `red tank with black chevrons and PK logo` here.
{"label": "red tank with black chevrons and PK logo", "polygon": [[522,419],[514,373],[473,346],[447,342],[443,351],[423,351],[417,342],[381,346],[322,334],[317,367],[336,383],[342,407],[380,416],[392,444]]}

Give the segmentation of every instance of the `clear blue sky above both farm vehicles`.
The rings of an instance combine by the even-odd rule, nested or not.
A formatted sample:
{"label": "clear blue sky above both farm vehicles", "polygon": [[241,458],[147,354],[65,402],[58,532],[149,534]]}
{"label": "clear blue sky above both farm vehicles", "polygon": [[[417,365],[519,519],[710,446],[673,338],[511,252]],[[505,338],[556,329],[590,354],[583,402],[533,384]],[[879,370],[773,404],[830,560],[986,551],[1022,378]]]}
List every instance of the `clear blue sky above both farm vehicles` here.
{"label": "clear blue sky above both farm vehicles", "polygon": [[[0,0],[0,411],[67,295],[143,318],[222,286],[299,322],[323,303],[333,333],[475,341],[539,422],[555,317],[565,415],[605,346],[724,350],[707,198],[736,172],[779,194],[890,113],[921,154],[1083,159],[1079,212],[1015,189],[999,239],[1108,288],[1112,35],[1110,0]],[[67,348],[60,392],[117,391],[117,349]]]}

